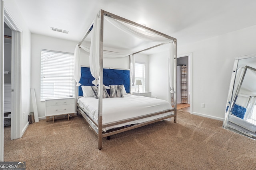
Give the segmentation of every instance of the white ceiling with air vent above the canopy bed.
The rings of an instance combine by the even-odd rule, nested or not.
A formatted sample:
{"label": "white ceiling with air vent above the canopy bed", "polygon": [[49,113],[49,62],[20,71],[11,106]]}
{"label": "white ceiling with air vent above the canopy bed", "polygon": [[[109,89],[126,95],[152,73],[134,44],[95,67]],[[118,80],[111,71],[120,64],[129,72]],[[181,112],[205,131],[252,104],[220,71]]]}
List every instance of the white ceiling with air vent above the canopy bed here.
{"label": "white ceiling with air vent above the canopy bed", "polygon": [[[16,0],[32,33],[79,42],[102,9],[177,39],[178,46],[256,25],[255,0]],[[68,34],[50,27],[68,30]]]}

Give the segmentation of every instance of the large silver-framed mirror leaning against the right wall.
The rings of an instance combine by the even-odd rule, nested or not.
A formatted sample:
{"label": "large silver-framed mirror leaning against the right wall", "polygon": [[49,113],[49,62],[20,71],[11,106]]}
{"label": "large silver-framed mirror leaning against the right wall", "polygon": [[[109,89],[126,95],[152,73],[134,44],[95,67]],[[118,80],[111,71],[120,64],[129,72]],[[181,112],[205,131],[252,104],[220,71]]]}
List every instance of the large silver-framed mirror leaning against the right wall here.
{"label": "large silver-framed mirror leaning against the right wall", "polygon": [[235,59],[223,127],[256,139],[256,55]]}

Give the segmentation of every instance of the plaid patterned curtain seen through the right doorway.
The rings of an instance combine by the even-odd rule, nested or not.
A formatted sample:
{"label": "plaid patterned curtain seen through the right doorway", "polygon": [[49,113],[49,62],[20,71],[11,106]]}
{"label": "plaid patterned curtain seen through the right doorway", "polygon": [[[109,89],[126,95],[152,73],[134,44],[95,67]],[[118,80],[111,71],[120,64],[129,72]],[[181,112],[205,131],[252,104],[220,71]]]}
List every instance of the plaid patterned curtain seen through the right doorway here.
{"label": "plaid patterned curtain seen through the right doorway", "polygon": [[181,103],[188,103],[187,66],[181,66]]}

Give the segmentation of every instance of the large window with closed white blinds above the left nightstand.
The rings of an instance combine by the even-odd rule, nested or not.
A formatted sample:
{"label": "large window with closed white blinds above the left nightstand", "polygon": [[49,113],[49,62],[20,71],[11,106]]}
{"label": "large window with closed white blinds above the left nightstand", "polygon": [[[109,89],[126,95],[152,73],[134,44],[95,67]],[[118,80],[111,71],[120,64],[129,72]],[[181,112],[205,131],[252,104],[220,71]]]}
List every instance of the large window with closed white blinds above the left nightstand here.
{"label": "large window with closed white blinds above the left nightstand", "polygon": [[74,54],[41,49],[41,101],[74,96]]}

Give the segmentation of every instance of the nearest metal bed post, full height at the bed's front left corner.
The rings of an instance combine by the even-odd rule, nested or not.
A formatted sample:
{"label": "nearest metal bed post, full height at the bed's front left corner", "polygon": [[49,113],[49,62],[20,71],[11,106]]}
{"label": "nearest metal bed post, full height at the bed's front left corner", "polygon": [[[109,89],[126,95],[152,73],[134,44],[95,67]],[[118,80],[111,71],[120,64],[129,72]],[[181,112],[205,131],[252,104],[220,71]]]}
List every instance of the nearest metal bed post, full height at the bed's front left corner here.
{"label": "nearest metal bed post, full height at the bed's front left corner", "polygon": [[98,103],[98,149],[102,149],[102,93],[103,93],[103,26],[104,11],[100,10],[100,78],[99,78],[99,103]]}

